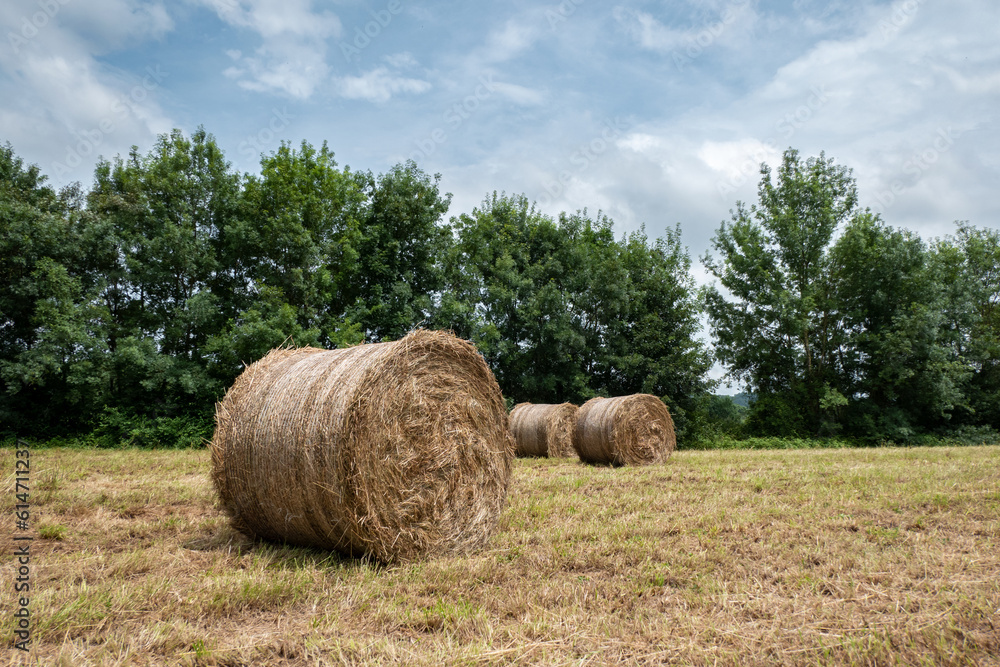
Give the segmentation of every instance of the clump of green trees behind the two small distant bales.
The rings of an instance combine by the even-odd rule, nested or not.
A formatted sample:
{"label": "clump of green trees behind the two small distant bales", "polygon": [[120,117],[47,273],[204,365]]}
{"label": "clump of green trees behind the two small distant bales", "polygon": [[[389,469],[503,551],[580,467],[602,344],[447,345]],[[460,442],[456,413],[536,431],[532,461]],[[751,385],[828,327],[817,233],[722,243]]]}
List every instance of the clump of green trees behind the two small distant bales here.
{"label": "clump of green trees behind the two small distant bales", "polygon": [[453,219],[452,295],[438,322],[475,340],[504,393],[539,403],[652,393],[686,428],[709,383],[699,308],[679,229],[616,241],[581,211],[542,215],[523,196]]}

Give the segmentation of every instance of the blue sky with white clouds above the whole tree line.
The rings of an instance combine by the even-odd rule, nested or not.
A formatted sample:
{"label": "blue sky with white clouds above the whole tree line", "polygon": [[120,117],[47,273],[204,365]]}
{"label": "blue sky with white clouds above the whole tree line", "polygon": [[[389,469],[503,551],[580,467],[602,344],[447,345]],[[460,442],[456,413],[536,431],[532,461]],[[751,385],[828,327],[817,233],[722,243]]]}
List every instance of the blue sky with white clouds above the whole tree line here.
{"label": "blue sky with white clouds above the whole tree line", "polygon": [[204,125],[244,171],[326,140],[440,173],[452,215],[524,193],[697,258],[794,147],[924,238],[1000,226],[995,0],[8,0],[0,29],[0,141],[57,186]]}

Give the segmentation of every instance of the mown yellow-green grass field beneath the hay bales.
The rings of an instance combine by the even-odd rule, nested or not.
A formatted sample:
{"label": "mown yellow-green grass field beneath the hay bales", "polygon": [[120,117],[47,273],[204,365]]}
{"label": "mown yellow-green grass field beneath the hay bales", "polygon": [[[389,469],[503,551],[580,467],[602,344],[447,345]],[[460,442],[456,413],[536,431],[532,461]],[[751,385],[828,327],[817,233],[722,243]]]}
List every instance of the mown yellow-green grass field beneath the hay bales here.
{"label": "mown yellow-green grass field beneath the hay bales", "polygon": [[998,665],[1000,449],[519,460],[485,551],[384,567],[234,534],[206,451],[35,449],[44,665]]}

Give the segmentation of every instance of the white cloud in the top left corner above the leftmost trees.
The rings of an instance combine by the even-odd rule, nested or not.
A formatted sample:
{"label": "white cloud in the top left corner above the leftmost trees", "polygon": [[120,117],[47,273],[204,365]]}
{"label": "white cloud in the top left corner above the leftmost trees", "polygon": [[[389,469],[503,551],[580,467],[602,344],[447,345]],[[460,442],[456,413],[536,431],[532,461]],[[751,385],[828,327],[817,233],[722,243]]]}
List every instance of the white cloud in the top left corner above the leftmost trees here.
{"label": "white cloud in the top left corner above the leftmost trees", "polygon": [[43,172],[65,183],[86,180],[98,155],[170,130],[158,99],[172,73],[155,62],[125,72],[97,56],[160,39],[173,25],[160,3],[4,3],[0,34],[12,47],[0,48],[5,138],[43,156]]}

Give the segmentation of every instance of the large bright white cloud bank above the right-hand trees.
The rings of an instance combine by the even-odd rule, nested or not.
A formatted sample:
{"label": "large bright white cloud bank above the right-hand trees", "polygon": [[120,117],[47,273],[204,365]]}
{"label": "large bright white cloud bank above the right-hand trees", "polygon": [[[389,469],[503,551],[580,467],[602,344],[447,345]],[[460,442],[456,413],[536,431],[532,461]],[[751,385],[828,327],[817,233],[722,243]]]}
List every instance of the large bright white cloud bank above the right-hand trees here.
{"label": "large bright white cloud bank above the right-hand trees", "polygon": [[[619,206],[626,226],[681,221],[700,254],[737,200],[756,200],[760,162],[777,167],[791,146],[852,168],[862,205],[890,224],[925,237],[950,233],[954,219],[995,224],[983,212],[997,211],[988,193],[1000,184],[990,161],[1000,135],[989,129],[1000,108],[1000,47],[990,31],[953,20],[955,7],[921,3],[892,23],[898,11],[872,9],[853,34],[815,43],[727,104],[646,119],[619,141],[620,155],[577,175],[567,193],[581,199],[560,203],[610,193],[627,202]],[[962,3],[962,14],[1000,21],[1000,7],[979,0]],[[636,12],[620,16],[649,48],[681,39],[653,22],[638,32]]]}

